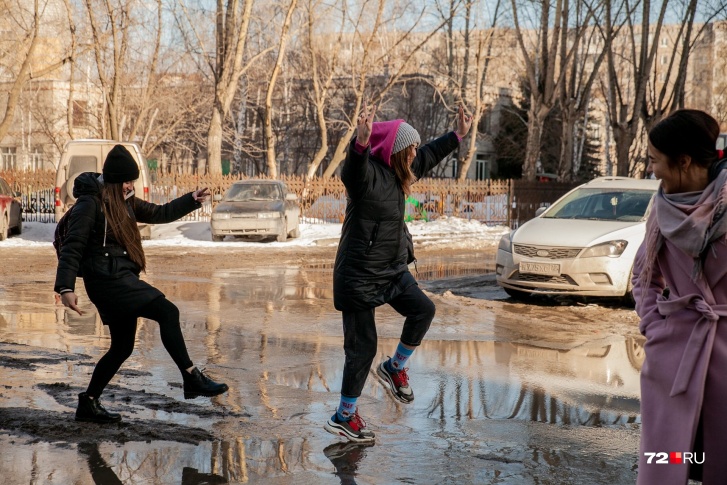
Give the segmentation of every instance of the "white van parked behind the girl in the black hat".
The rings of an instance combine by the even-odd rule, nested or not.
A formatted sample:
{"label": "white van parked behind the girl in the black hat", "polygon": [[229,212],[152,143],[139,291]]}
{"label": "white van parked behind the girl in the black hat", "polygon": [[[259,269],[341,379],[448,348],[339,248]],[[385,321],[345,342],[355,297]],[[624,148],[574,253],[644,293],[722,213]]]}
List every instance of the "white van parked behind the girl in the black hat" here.
{"label": "white van parked behind the girl in the black hat", "polygon": [[[76,177],[83,172],[101,173],[106,155],[115,145],[123,145],[139,165],[139,180],[134,185],[136,196],[146,201],[151,199],[149,167],[136,143],[115,140],[71,140],[63,147],[56,171],[56,222],[76,202],[76,198],[73,197],[73,183],[76,181]],[[139,230],[144,239],[151,236],[151,226],[139,224]]]}

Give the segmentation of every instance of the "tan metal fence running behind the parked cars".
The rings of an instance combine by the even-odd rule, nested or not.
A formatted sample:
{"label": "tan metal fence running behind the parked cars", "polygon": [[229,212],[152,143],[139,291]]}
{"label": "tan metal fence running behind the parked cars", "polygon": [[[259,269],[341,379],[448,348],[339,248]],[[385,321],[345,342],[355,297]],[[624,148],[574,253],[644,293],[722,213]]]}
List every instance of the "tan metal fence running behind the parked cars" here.
{"label": "tan metal fence running behind the parked cars", "polygon": [[[55,172],[0,171],[0,177],[21,193],[23,220],[55,221]],[[201,187],[209,188],[213,195],[224,194],[234,182],[246,178],[152,172],[150,200],[163,204]],[[343,222],[346,189],[340,179],[305,180],[293,175],[282,176],[281,180],[298,196],[301,222]],[[522,180],[422,179],[412,186],[414,192],[406,199],[406,220],[431,221],[456,216],[517,227],[533,218],[538,207],[550,205],[573,187],[573,184]],[[183,220],[209,221],[215,205],[210,200]]]}

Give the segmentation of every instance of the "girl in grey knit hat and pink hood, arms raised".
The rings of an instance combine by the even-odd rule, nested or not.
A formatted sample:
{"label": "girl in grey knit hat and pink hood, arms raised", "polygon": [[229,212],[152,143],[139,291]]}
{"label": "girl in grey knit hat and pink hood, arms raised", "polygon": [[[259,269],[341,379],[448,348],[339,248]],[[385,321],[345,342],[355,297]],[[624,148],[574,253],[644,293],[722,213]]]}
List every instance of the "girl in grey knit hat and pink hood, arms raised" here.
{"label": "girl in grey knit hat and pink hood, arms raised", "polygon": [[360,443],[375,439],[356,401],[376,357],[376,307],[388,303],[406,317],[396,350],[376,367],[386,389],[405,404],[414,401],[406,363],[434,318],[434,303],[409,272],[408,264],[415,259],[404,201],[412,184],[452,153],[472,124],[460,106],[455,131],[419,146],[419,133],[411,125],[404,120],[374,123],[375,112],[376,106],[364,105],[341,170],[347,204],[333,272],[333,304],[343,316],[346,359],[341,400],[324,425],[326,431]]}

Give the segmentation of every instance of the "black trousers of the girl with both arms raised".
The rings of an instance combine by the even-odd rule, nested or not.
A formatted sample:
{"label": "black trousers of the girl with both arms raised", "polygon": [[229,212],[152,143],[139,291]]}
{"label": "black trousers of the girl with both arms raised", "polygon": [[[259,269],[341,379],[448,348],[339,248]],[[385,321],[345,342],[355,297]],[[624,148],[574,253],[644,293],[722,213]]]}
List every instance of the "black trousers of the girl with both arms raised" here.
{"label": "black trousers of the girl with both arms raised", "polygon": [[[401,341],[418,347],[434,319],[435,307],[432,300],[419,286],[412,285],[391,300],[389,305],[406,317]],[[346,352],[341,383],[343,396],[359,397],[366,384],[377,349],[375,310],[371,308],[361,312],[343,312],[343,350]]]}

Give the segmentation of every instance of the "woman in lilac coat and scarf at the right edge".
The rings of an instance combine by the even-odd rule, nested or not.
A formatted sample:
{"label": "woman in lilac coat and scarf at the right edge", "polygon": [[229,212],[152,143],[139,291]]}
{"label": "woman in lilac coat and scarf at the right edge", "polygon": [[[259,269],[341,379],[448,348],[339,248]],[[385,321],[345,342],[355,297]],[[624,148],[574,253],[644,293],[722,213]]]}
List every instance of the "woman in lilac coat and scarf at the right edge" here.
{"label": "woman in lilac coat and scarf at the right edge", "polygon": [[[646,336],[639,484],[727,483],[727,170],[720,128],[679,110],[649,132],[661,179],[634,264]],[[668,288],[668,291],[664,291]]]}

